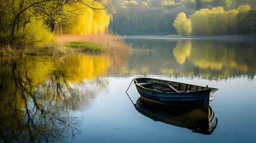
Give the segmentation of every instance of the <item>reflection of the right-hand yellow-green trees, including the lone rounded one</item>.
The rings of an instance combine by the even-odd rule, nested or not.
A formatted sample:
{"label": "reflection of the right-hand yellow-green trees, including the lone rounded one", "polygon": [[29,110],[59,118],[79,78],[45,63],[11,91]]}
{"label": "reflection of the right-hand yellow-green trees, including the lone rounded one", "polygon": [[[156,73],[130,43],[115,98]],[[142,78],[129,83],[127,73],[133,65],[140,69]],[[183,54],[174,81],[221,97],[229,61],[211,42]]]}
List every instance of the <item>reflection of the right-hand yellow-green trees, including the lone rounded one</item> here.
{"label": "reflection of the right-hand yellow-green trees, including the lone rounded one", "polygon": [[204,79],[226,79],[239,74],[253,78],[255,74],[255,43],[187,40],[178,41],[172,51],[181,67],[190,64],[193,68],[187,71],[198,70],[195,74]]}

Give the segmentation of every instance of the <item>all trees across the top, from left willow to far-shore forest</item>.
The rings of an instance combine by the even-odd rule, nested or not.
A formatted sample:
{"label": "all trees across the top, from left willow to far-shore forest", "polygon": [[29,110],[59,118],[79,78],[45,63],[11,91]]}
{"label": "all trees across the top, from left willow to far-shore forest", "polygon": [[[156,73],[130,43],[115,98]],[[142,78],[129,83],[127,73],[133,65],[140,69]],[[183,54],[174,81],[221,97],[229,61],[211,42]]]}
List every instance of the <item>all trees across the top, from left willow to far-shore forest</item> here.
{"label": "all trees across the top, from left willow to far-shore forest", "polygon": [[4,0],[0,43],[16,48],[59,46],[56,35],[106,31],[117,35],[255,34],[255,8],[254,0]]}

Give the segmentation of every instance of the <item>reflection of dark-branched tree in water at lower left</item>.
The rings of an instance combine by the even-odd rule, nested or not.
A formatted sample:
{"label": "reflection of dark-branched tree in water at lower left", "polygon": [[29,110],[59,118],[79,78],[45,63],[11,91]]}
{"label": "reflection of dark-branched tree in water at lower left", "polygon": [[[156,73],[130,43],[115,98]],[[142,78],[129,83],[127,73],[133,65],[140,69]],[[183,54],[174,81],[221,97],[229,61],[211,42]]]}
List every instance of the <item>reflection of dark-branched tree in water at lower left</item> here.
{"label": "reflection of dark-branched tree in water at lower left", "polygon": [[63,142],[81,132],[79,119],[69,117],[69,110],[90,107],[98,91],[95,88],[104,89],[107,82],[95,78],[70,83],[56,67],[48,58],[2,65],[1,141]]}

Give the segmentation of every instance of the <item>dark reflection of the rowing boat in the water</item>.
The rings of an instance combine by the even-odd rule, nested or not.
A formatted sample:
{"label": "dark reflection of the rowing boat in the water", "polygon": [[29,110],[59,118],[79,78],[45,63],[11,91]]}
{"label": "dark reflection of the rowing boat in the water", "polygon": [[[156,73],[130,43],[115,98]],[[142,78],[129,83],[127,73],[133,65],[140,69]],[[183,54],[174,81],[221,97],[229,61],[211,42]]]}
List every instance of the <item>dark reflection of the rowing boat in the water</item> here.
{"label": "dark reflection of the rowing boat in the water", "polygon": [[209,107],[208,113],[201,108],[188,110],[166,106],[160,107],[157,104],[144,101],[140,97],[135,104],[135,108],[152,120],[187,128],[192,132],[204,135],[211,135],[218,121],[211,107]]}

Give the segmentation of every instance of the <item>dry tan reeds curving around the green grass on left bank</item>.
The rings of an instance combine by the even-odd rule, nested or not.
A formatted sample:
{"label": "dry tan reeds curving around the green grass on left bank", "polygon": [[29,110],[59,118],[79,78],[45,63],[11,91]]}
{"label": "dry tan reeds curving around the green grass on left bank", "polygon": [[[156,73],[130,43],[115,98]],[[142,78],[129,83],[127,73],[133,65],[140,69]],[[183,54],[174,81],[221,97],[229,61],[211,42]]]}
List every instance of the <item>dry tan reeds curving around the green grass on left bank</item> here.
{"label": "dry tan reeds curving around the green grass on left bank", "polygon": [[[119,67],[127,60],[131,54],[131,47],[127,45],[124,39],[112,33],[97,33],[93,35],[59,35],[57,42],[50,46],[35,47],[29,45],[2,45],[0,46],[0,57],[23,57],[25,55],[69,55],[81,54],[76,53],[72,48],[66,47],[64,43],[77,42],[91,42],[99,45],[108,46],[106,55],[110,58],[112,67]],[[60,44],[59,44],[60,43]]]}

